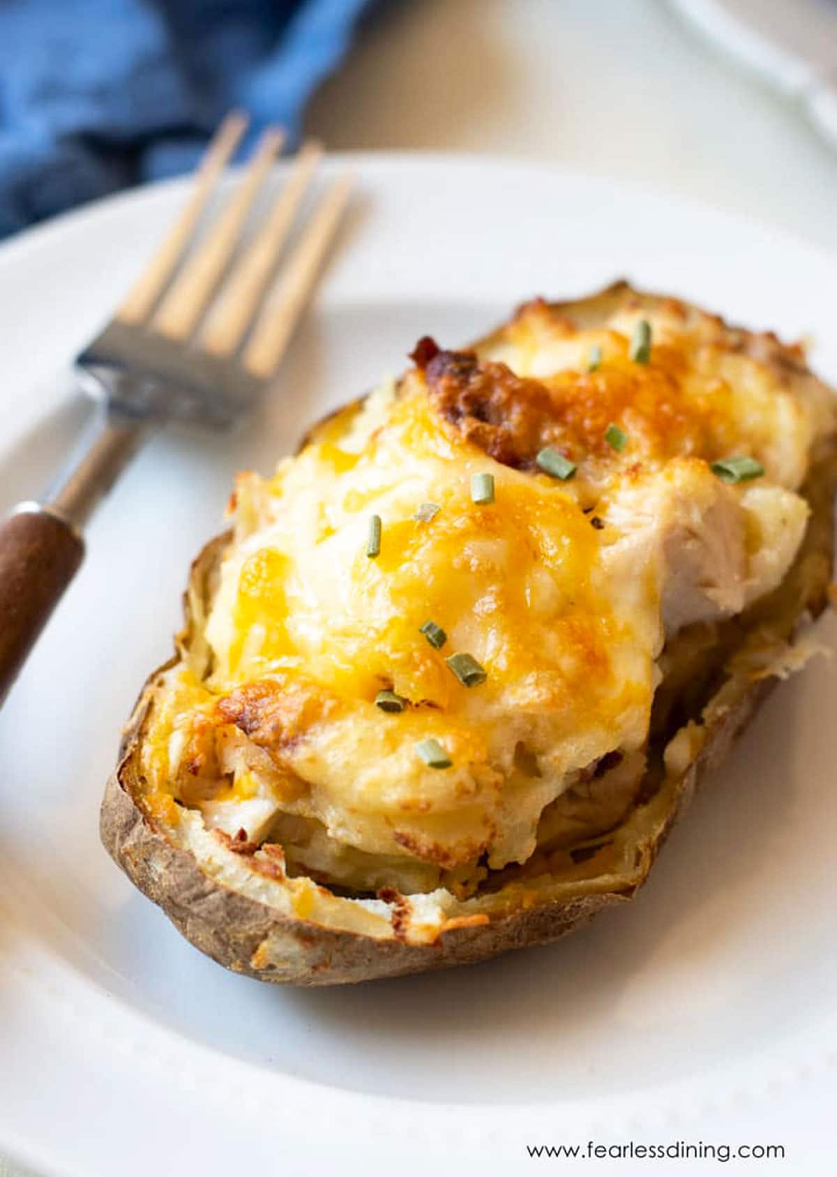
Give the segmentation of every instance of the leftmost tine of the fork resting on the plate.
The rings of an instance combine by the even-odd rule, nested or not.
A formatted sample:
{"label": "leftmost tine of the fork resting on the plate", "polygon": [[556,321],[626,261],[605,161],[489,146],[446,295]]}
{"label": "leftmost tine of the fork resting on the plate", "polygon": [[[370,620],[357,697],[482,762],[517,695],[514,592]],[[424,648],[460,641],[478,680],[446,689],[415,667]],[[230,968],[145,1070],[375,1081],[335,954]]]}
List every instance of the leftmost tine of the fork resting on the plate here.
{"label": "leftmost tine of the fork resting on the plate", "polygon": [[117,311],[120,322],[137,324],[147,318],[168,281],[180,254],[194,232],[198,219],[212,195],[218,177],[238,147],[247,126],[247,117],[233,111],[221,122],[207,147],[195,175],[192,194],[175,222],[160,242],[125,301]]}

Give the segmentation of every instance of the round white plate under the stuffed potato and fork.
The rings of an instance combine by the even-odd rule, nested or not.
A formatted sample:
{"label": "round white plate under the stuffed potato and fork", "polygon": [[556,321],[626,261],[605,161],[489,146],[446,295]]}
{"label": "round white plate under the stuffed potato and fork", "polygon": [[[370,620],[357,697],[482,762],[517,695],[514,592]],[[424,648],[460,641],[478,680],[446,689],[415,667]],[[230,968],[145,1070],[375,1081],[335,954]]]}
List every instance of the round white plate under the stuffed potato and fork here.
{"label": "round white plate under the stuffed potato and fork", "polygon": [[[728,1141],[743,1124],[750,1139],[766,1124],[762,1141],[799,1135],[837,1057],[825,659],[776,692],[632,906],[479,967],[260,985],[192,949],[99,845],[119,726],[167,656],[233,471],[271,468],[418,335],[457,344],[534,293],[626,274],[811,332],[837,377],[837,259],[810,246],[547,167],[351,164],[354,213],[277,394],[232,439],[170,434],[140,454],[0,716],[0,1150],[84,1177],[245,1161],[294,1177],[507,1175],[526,1170],[526,1143],[706,1139],[710,1116]],[[67,358],[182,192],[120,197],[0,251],[0,500],[36,493],[74,434]],[[821,634],[835,644],[832,620]],[[816,1146],[805,1131],[797,1161]]]}

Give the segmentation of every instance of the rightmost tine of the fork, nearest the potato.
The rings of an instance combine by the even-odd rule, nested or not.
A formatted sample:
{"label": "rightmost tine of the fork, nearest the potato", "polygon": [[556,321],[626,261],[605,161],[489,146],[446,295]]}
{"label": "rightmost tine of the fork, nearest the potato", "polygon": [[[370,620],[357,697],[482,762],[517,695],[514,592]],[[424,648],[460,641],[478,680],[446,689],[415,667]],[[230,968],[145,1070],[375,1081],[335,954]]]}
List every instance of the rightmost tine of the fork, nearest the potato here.
{"label": "rightmost tine of the fork, nearest the potato", "polygon": [[352,177],[337,180],[317,206],[287,267],[261,310],[253,334],[244,351],[244,367],[258,379],[275,371],[293,333],[326,250],[340,222],[348,199]]}

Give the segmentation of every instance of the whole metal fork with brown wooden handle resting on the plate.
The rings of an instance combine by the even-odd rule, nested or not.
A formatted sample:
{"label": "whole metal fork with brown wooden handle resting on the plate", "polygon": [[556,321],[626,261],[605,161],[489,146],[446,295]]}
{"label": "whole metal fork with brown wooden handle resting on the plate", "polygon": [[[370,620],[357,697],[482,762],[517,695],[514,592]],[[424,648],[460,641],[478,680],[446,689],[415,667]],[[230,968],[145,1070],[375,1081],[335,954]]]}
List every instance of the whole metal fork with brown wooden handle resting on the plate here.
{"label": "whole metal fork with brown wooden handle resting on the plate", "polygon": [[42,500],[0,524],[0,705],[84,557],[82,527],[152,427],[168,420],[227,428],[271,383],[313,291],[350,191],[326,189],[287,260],[274,271],[321,148],[306,144],[258,231],[254,201],[283,147],[268,127],[220,213],[198,226],[246,128],[230,114],[192,193],[113,318],[75,358],[101,403],[93,437]]}

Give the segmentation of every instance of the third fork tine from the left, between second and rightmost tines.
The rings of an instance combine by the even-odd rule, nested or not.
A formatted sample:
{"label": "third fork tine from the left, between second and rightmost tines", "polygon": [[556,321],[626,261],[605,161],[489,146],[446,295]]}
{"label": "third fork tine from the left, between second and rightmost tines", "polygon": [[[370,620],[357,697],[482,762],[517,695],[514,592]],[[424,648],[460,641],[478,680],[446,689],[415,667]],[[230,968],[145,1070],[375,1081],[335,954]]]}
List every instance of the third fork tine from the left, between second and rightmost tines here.
{"label": "third fork tine from the left, between second and rightmost tines", "polygon": [[319,144],[303,146],[267,220],[221,287],[200,333],[213,355],[231,355],[244,339],[321,155]]}

